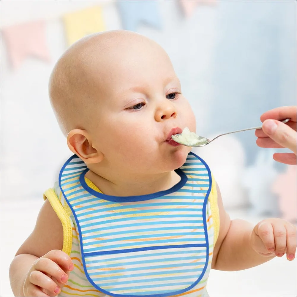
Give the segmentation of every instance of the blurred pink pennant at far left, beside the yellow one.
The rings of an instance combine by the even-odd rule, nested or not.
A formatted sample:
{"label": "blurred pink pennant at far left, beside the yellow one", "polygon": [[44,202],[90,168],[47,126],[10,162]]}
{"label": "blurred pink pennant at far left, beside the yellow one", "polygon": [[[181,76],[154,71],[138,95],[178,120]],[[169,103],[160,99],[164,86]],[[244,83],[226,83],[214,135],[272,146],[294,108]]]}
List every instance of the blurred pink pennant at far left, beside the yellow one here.
{"label": "blurred pink pennant at far left, beside the yellow one", "polygon": [[22,23],[4,28],[2,31],[13,68],[18,68],[27,56],[50,61],[44,21]]}

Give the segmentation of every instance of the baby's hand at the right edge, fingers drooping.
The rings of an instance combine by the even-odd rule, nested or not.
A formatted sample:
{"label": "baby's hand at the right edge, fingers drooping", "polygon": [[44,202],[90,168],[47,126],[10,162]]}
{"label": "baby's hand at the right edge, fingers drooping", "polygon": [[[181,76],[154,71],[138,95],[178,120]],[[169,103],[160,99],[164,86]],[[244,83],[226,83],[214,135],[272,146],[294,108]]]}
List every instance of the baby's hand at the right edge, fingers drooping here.
{"label": "baby's hand at the right edge, fingers drooping", "polygon": [[283,219],[265,219],[253,229],[252,248],[264,257],[282,257],[293,260],[296,253],[296,227]]}

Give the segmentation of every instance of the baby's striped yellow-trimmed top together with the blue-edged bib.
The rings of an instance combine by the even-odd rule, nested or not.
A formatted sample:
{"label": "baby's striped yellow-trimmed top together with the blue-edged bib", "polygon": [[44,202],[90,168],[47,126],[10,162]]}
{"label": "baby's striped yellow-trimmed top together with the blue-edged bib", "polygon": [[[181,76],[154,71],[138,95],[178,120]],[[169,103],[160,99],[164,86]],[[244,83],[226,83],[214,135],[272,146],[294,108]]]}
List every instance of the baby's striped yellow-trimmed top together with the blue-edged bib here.
{"label": "baby's striped yellow-trimmed top together with the blue-edged bib", "polygon": [[75,269],[59,296],[208,296],[219,232],[215,181],[189,153],[181,180],[149,195],[104,195],[76,155],[44,193]]}

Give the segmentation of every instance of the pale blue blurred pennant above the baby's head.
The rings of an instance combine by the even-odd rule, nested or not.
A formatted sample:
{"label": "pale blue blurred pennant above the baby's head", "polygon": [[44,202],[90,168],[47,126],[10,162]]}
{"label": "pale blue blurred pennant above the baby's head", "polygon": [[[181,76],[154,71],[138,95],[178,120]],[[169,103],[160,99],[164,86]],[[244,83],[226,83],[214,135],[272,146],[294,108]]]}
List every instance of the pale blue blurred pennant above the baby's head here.
{"label": "pale blue blurred pennant above the baby's head", "polygon": [[137,31],[139,24],[162,29],[157,1],[117,1],[123,29]]}

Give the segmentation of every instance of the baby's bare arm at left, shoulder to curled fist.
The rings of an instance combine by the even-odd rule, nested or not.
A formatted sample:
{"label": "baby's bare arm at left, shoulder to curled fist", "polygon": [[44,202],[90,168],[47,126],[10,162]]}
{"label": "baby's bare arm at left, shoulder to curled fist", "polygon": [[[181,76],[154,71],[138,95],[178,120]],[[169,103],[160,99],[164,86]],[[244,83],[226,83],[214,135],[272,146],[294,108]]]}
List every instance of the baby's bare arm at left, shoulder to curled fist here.
{"label": "baby's bare arm at left, shoulder to curled fist", "polygon": [[45,200],[33,232],[10,264],[10,285],[14,295],[59,294],[73,269],[70,257],[62,248],[62,224],[49,201]]}

